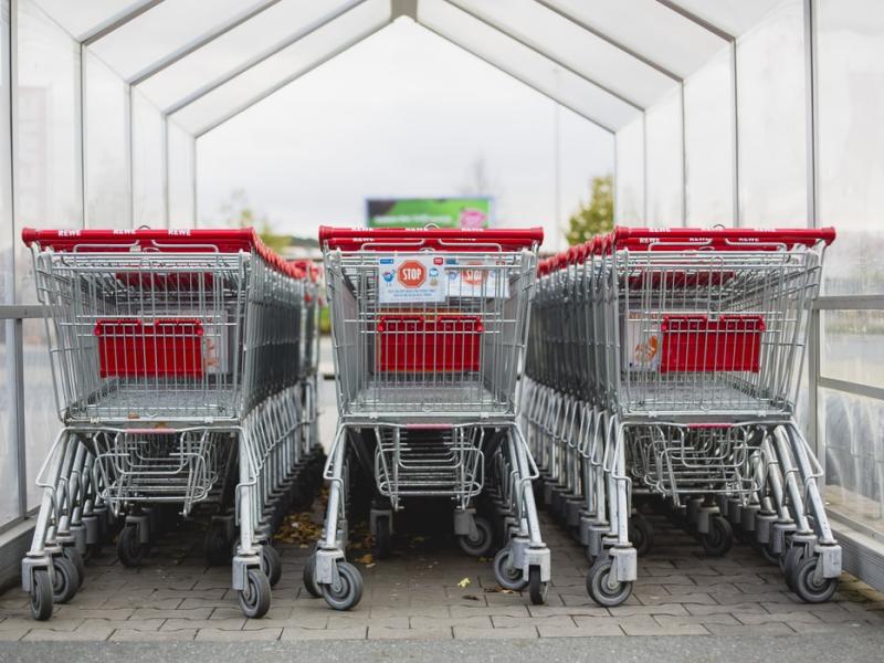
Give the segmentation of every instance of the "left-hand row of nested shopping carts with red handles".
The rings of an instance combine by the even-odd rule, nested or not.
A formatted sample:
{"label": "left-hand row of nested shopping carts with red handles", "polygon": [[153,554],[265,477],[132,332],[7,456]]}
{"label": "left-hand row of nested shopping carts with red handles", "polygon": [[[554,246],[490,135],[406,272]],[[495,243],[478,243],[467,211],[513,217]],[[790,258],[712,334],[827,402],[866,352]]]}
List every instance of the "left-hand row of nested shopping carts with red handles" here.
{"label": "left-hand row of nested shopping carts with red handles", "polygon": [[33,615],[73,598],[83,556],[115,523],[130,567],[172,513],[198,511],[211,518],[207,559],[233,554],[240,606],[263,615],[281,573],[273,528],[316,466],[298,408],[314,343],[303,335],[304,272],[251,229],[25,229],[22,239],[64,423],[38,476],[22,562]]}

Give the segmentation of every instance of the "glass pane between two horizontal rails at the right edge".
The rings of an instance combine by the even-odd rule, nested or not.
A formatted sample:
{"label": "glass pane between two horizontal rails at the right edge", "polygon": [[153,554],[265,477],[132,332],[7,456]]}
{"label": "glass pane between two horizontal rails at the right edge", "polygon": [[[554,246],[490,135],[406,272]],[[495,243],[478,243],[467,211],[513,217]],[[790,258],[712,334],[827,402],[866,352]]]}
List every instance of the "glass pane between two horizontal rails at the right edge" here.
{"label": "glass pane between two horizontal rails at the right edge", "polygon": [[823,311],[821,375],[884,387],[884,311]]}

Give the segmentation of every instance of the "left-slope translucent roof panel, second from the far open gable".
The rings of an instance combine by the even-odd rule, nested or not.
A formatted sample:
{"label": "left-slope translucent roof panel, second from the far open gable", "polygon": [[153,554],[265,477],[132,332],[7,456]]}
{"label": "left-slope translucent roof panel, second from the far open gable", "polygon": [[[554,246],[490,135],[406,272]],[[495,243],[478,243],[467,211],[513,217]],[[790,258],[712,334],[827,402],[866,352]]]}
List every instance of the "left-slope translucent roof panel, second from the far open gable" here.
{"label": "left-slope translucent roof panel, second from the far open gable", "polygon": [[215,85],[231,73],[281,50],[298,34],[354,4],[358,1],[282,0],[146,78],[138,87],[158,106],[168,109],[191,93]]}

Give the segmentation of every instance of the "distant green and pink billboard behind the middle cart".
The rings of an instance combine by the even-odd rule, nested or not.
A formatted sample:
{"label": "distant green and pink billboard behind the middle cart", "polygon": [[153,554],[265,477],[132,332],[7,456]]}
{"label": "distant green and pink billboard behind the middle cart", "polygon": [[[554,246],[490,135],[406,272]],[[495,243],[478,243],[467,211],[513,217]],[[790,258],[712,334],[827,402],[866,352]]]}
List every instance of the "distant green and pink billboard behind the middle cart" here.
{"label": "distant green and pink billboard behind the middle cart", "polygon": [[369,228],[487,228],[491,198],[396,198],[366,201]]}

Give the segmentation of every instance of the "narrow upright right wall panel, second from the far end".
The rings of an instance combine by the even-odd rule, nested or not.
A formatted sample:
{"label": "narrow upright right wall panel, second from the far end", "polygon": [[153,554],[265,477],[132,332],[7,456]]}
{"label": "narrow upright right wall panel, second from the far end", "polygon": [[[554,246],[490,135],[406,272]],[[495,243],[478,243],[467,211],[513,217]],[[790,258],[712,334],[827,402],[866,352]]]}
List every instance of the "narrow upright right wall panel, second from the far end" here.
{"label": "narrow upright right wall panel, second from the far end", "polygon": [[683,225],[680,92],[648,109],[645,129],[648,131],[646,224],[654,228]]}

